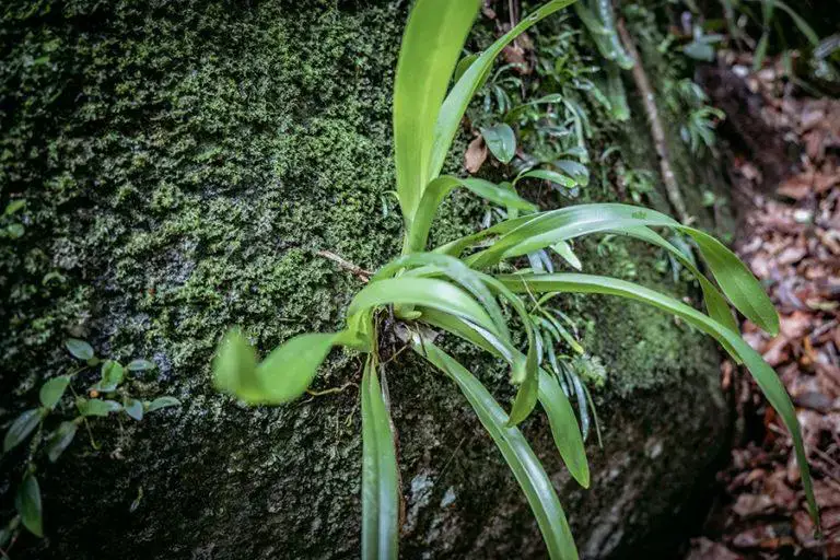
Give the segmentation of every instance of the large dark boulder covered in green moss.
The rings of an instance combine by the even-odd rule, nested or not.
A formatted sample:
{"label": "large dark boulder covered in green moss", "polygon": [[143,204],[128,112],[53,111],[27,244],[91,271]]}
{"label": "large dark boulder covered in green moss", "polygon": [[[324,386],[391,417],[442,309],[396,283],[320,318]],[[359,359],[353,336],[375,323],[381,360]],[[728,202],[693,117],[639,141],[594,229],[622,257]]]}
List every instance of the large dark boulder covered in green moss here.
{"label": "large dark boulder covered in green moss", "polygon": [[[24,235],[0,241],[0,420],[71,366],[67,336],[90,340],[100,355],[153,360],[156,371],[133,389],[183,401],[141,424],[96,422],[101,450],[80,432],[61,460],[44,465],[47,537],[24,536],[15,558],[358,556],[359,358],[334,352],[314,387],[342,392],[259,409],[217,394],[209,362],[234,324],[262,351],[340,327],[361,284],[317,250],[368,269],[399,252],[388,195],[390,88],[406,3],[2,8],[0,202],[27,205]],[[655,168],[641,106],[633,109],[633,121],[604,135]],[[698,173],[680,158],[689,162],[680,173]],[[684,179],[689,199],[699,199],[693,178]],[[474,231],[485,208],[454,195],[434,241]],[[657,250],[621,241],[606,254],[596,242],[580,249],[585,271],[632,277],[697,303],[696,288],[657,268]],[[584,557],[667,547],[669,524],[690,509],[688,497],[702,490],[725,443],[715,347],[637,304],[562,302],[607,372],[593,387],[604,446],[590,445],[592,488],[570,480],[540,413],[526,435]],[[500,364],[452,349],[510,398]],[[393,365],[404,556],[545,556],[520,489],[456,387],[406,354]],[[21,459],[1,459],[3,520]]]}

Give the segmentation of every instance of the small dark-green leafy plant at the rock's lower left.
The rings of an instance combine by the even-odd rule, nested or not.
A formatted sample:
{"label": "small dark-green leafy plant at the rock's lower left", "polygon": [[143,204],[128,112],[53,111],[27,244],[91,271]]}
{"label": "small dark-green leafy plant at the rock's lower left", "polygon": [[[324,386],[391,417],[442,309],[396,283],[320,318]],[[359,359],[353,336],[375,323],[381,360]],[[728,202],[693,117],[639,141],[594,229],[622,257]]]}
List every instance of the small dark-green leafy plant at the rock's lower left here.
{"label": "small dark-green leafy plant at the rock's lower left", "polygon": [[[180,404],[174,397],[140,400],[131,395],[126,383],[128,372],[154,369],[154,364],[148,360],[131,360],[124,366],[116,360],[97,358],[91,345],[77,338],[68,339],[65,347],[83,365],[46,381],[38,392],[39,406],[21,412],[3,439],[3,454],[8,454],[32,438],[23,465],[23,478],[14,500],[18,513],[0,528],[0,555],[3,558],[8,558],[9,549],[22,528],[35,536],[44,536],[40,486],[36,476],[38,462],[46,458],[50,464],[56,463],[75,439],[80,425],[84,425],[88,431],[91,446],[98,450],[91,419],[108,417],[119,423],[122,417],[139,422],[149,412]],[[73,382],[83,372],[97,366],[100,380],[88,388],[86,397],[79,395],[73,388]],[[73,397],[72,406],[69,405],[69,398],[65,398],[68,392]],[[75,411],[71,412],[73,408]],[[48,429],[47,424],[54,422],[58,422],[58,425]]]}

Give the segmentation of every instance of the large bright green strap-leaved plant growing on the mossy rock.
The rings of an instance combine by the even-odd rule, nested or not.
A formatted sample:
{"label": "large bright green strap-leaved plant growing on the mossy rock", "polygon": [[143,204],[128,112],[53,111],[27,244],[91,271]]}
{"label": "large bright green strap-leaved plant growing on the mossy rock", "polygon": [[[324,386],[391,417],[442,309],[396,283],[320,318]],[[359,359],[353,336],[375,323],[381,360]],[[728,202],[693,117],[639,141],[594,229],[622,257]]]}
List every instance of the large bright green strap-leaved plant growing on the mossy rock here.
{"label": "large bright green strap-leaved plant growing on the mossy rock", "polygon": [[[380,359],[380,336],[385,329],[389,330],[384,332],[387,340],[393,336],[401,339],[406,348],[442,371],[464,394],[522,487],[549,556],[578,558],[551,480],[517,428],[539,401],[572,477],[583,487],[590,486],[581,429],[558,376],[541,365],[540,329],[535,327],[534,313],[526,305],[529,298],[556,293],[600,293],[646,303],[720,341],[752,373],[789,428],[810,512],[815,523],[818,520],[793,405],[772,368],[742,340],[730,303],[770,332],[778,331],[779,317],[759,282],[732,252],[707,233],[645,208],[581,205],[538,212],[535,205],[516,194],[513,185],[440,174],[467,105],[499,52],[518,34],[571,2],[555,0],[525,18],[472,57],[466,68],[462,67],[447,94],[480,2],[417,0],[402,37],[394,86],[396,191],[405,222],[402,254],[375,272],[355,295],[341,331],[296,336],[259,361],[245,334],[234,328],[217,351],[217,387],[252,405],[280,405],[304,394],[335,346],[366,355],[360,387],[363,558],[393,559],[398,549],[401,489],[389,402],[380,385],[386,366]],[[515,210],[516,215],[509,212],[508,219],[494,225],[427,250],[429,230],[442,200],[459,187]],[[714,281],[654,228],[674,230],[690,238]],[[709,314],[623,280],[512,268],[521,262],[520,257],[595,233],[629,235],[672,254],[697,278]],[[503,262],[513,272],[497,273]],[[388,308],[398,320],[383,320]],[[505,308],[527,338],[524,352],[513,341]],[[553,322],[551,325],[557,327]],[[441,331],[465,339],[509,364],[511,382],[517,387],[510,411],[435,343]],[[395,363],[388,362],[388,368]]]}

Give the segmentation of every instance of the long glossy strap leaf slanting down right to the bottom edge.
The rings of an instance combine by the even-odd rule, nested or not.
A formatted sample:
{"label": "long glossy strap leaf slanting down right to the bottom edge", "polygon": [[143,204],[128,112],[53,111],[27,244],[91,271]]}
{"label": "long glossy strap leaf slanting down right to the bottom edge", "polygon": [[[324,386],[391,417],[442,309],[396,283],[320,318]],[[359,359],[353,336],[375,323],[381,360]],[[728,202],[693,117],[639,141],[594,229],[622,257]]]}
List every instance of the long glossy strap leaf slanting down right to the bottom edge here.
{"label": "long glossy strap leaf slanting down right to the bottom edge", "polygon": [[574,546],[565,513],[551,480],[518,429],[509,424],[508,415],[483,385],[463,365],[429,340],[415,339],[413,350],[443,371],[460,388],[479,421],[501,451],[537,518],[548,553],[552,559],[575,560]]}

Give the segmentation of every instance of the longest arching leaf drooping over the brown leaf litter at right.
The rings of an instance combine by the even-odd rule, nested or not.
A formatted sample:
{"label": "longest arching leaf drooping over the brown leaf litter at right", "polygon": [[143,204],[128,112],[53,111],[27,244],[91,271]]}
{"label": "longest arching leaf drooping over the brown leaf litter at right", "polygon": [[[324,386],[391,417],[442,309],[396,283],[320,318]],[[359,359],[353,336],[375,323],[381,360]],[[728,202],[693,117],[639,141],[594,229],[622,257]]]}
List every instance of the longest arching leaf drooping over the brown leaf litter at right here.
{"label": "longest arching leaf drooping over the brown leaf litter at right", "polygon": [[796,460],[802,472],[802,486],[808,501],[814,523],[819,525],[819,515],[816,500],[814,499],[810,471],[808,469],[807,455],[796,420],[796,411],[793,408],[788,392],[779,380],[779,376],[740,336],[714,319],[703,315],[672,298],[657,293],[632,282],[617,280],[615,278],[590,275],[510,275],[500,277],[499,280],[511,290],[518,292],[574,292],[574,293],[600,293],[619,295],[630,300],[640,301],[667,311],[697,327],[715,340],[725,341],[724,348],[733,352],[733,357],[740,360],[752,374],[756,383],[767,397],[767,400],[779,413],[793,439]]}

